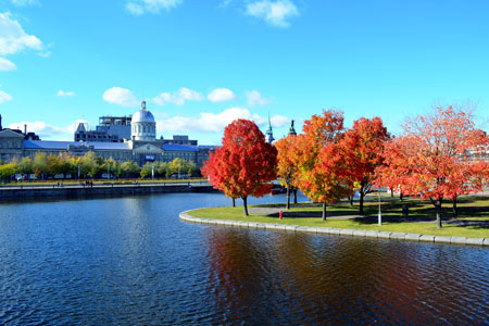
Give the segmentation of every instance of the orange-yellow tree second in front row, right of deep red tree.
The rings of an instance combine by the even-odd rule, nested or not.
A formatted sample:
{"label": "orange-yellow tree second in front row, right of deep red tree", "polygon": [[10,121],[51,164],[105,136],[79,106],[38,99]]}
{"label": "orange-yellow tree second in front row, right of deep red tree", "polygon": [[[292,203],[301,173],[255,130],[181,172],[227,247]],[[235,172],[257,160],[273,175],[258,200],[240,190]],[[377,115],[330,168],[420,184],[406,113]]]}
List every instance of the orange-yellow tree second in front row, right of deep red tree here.
{"label": "orange-yellow tree second in front row, right of deep red tree", "polygon": [[342,156],[339,141],[343,135],[342,112],[323,111],[304,122],[304,134],[297,136],[293,160],[298,166],[299,188],[309,199],[326,205],[351,192],[351,170]]}

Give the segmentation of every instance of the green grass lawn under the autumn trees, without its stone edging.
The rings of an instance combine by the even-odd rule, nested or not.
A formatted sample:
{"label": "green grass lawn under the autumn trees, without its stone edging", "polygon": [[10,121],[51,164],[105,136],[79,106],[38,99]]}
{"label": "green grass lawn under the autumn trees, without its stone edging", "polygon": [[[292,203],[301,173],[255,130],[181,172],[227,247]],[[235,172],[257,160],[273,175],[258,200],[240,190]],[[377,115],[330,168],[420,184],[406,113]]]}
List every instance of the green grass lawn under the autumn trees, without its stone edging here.
{"label": "green grass lawn under the autumn trees, without its stone edging", "polygon": [[[408,204],[410,214],[408,218],[402,218],[402,205]],[[486,221],[489,223],[489,198],[487,197],[465,197],[459,199],[457,220]],[[365,202],[365,217],[354,217],[359,212],[358,202],[351,206],[349,203],[339,203],[327,208],[327,221],[321,218],[322,206],[311,203],[300,203],[292,205],[290,211],[285,210],[284,204],[252,205],[252,208],[278,208],[284,209],[284,220],[278,218],[278,214],[259,215],[250,214],[243,216],[242,206],[231,208],[210,208],[189,212],[189,215],[214,220],[233,220],[242,222],[274,223],[300,226],[325,226],[336,228],[352,228],[363,230],[396,231],[410,234],[424,234],[434,236],[457,236],[467,238],[489,238],[489,226],[457,226],[446,224],[453,221],[452,203],[443,205],[443,227],[438,229],[435,224],[435,209],[429,201],[418,199],[408,199],[400,201],[393,199],[383,202],[383,225],[377,225],[378,202]],[[346,220],[347,216],[351,218]]]}

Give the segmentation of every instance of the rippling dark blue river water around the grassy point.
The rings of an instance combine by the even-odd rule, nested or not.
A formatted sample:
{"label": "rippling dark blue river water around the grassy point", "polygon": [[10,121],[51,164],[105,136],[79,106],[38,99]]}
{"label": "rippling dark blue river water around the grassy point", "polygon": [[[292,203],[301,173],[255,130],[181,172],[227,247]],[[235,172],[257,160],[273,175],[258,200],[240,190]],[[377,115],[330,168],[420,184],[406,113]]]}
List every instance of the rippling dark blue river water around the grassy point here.
{"label": "rippling dark blue river water around the grassy point", "polygon": [[487,248],[178,218],[229,203],[163,193],[0,204],[0,324],[489,325]]}

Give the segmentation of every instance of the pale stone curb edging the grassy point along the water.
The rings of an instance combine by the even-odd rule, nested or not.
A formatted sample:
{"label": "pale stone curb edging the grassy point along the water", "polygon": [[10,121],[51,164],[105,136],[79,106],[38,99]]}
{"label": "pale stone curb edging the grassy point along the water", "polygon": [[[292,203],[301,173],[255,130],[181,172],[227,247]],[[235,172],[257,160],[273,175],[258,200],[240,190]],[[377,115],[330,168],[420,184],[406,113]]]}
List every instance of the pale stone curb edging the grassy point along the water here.
{"label": "pale stone curb edging the grassy point along the water", "polygon": [[255,222],[237,222],[229,220],[211,220],[193,217],[187,214],[189,211],[181,212],[179,214],[180,220],[200,224],[215,224],[225,225],[231,227],[247,227],[256,229],[278,229],[285,231],[300,231],[300,233],[314,233],[326,235],[338,235],[349,237],[363,237],[363,238],[378,238],[378,239],[392,239],[392,240],[406,240],[406,241],[424,241],[424,242],[437,242],[437,243],[450,243],[450,244],[471,244],[471,246],[484,246],[489,247],[489,238],[465,238],[465,237],[442,237],[431,235],[418,235],[418,234],[402,234],[390,231],[377,231],[377,230],[360,230],[350,228],[331,228],[322,226],[299,226],[299,225],[285,225],[285,224],[272,224],[272,223],[255,223]]}

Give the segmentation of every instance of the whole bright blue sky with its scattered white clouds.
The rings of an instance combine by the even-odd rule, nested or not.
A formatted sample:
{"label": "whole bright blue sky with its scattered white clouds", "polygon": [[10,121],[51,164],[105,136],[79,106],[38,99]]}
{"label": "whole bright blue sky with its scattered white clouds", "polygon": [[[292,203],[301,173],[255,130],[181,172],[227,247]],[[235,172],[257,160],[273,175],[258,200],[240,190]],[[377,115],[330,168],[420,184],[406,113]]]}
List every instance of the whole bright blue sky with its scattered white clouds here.
{"label": "whole bright blue sky with its scattered white clouds", "polygon": [[335,108],[346,124],[442,103],[488,130],[489,1],[0,0],[0,113],[72,139],[146,99],[158,135],[220,143],[253,118],[274,134]]}

